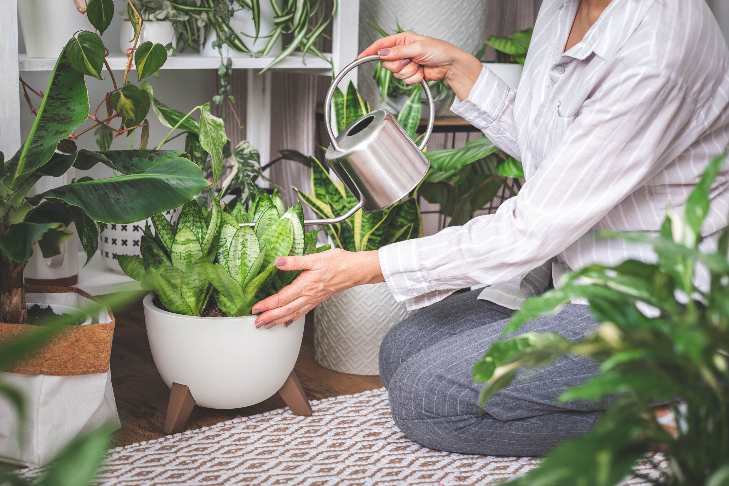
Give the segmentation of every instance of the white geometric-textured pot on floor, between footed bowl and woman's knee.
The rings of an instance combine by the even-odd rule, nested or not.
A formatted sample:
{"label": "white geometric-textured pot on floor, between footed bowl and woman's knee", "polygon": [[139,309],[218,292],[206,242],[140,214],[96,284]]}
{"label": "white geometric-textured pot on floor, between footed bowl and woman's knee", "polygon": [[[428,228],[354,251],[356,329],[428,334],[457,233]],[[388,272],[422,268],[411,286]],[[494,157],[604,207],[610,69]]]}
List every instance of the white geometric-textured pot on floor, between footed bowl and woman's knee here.
{"label": "white geometric-textured pot on floor, between footed bowl and woman's knee", "polygon": [[316,306],[314,361],[338,372],[379,375],[383,337],[408,315],[385,282],[340,292]]}

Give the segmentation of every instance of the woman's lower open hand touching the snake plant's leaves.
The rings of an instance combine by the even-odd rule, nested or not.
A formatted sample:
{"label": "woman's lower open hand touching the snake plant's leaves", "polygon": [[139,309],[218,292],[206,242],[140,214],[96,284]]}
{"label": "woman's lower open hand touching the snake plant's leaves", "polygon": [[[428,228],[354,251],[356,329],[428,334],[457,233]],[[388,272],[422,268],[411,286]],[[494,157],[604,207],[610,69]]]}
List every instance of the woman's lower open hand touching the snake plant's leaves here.
{"label": "woman's lower open hand touching the snake plant's leaves", "polygon": [[254,305],[252,313],[261,313],[256,327],[288,326],[340,291],[385,281],[376,250],[354,252],[335,248],[306,256],[281,256],[276,259],[276,267],[304,271],[278,294]]}

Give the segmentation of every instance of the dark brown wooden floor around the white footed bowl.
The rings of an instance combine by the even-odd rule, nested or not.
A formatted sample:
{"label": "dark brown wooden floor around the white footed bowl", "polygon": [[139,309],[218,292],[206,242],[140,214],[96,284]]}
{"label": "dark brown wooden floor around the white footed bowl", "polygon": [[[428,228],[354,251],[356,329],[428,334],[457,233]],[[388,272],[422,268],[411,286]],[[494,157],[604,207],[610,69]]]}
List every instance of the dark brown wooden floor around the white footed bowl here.
{"label": "dark brown wooden floor around the white footed bowl", "polygon": [[[157,373],[147,342],[141,299],[126,310],[115,310],[117,318],[112,345],[112,383],[122,420],[114,437],[114,446],[157,439],[162,431],[169,398],[169,388]],[[381,388],[379,377],[347,375],[320,367],[313,361],[313,322],[307,315],[303,345],[295,367],[310,400],[359,393]],[[240,409],[195,407],[185,430],[212,426],[223,420],[246,417],[285,407],[278,394],[260,404]]]}

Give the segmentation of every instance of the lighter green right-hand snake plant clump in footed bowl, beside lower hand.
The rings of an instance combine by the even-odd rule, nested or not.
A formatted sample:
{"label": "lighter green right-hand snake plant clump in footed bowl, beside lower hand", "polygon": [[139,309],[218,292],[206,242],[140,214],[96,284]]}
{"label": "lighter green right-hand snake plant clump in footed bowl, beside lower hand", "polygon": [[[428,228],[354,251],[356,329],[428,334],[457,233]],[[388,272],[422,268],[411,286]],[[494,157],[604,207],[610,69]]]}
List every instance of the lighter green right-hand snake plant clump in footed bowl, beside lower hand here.
{"label": "lighter green right-hand snake plant clump in footed bowl, beside lower hand", "polygon": [[304,232],[301,203],[284,210],[276,192],[272,197],[262,192],[247,210],[238,203],[231,213],[222,213],[222,219],[217,263],[208,265],[207,272],[218,307],[231,317],[250,315],[256,302],[276,294],[300,274],[276,269],[278,256],[330,248],[316,248],[319,230]]}

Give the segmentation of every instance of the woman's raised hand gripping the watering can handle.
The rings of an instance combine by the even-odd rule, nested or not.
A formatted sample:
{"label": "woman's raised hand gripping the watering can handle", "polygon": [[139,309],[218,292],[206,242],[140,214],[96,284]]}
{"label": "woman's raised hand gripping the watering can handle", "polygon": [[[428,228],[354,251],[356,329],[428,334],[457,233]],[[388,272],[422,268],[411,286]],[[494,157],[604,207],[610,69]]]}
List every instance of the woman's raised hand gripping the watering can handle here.
{"label": "woman's raised hand gripping the watering can handle", "polygon": [[397,79],[408,85],[443,79],[461,100],[468,98],[471,88],[481,74],[480,60],[453,44],[402,32],[379,39],[357,58],[377,54],[382,67],[392,71]]}

